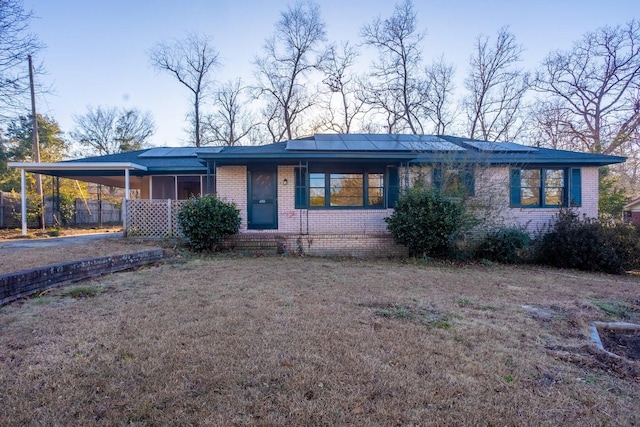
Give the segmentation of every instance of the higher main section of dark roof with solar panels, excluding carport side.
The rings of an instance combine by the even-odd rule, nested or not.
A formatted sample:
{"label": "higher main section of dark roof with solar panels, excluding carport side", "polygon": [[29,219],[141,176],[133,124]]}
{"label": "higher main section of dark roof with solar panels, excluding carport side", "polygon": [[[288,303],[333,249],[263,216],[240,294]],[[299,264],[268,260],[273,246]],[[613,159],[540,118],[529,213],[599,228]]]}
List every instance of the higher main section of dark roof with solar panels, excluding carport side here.
{"label": "higher main section of dark roof with solar panels, excluding carport side", "polygon": [[491,142],[448,135],[322,135],[256,147],[224,147],[200,152],[198,158],[217,164],[251,162],[463,162],[487,165],[603,166],[626,159],[604,154],[530,147],[513,142]]}

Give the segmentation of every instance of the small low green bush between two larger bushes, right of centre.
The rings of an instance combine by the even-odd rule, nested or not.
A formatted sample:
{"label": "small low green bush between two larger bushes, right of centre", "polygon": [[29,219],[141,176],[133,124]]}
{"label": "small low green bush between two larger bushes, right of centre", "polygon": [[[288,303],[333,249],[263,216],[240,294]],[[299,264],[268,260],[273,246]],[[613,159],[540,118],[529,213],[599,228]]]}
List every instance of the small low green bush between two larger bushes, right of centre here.
{"label": "small low green bush between two larger bushes, right of centre", "polygon": [[501,228],[489,232],[477,248],[478,258],[505,264],[525,260],[525,251],[531,243],[529,233],[520,228]]}

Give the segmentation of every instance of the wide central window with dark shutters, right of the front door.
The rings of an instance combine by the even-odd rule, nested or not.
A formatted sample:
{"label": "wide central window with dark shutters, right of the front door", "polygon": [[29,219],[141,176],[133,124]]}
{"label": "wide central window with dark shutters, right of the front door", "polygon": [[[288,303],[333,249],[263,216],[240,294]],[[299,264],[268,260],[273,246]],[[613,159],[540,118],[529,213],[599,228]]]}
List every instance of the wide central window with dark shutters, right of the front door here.
{"label": "wide central window with dark shutters, right of the front door", "polygon": [[[389,168],[395,169],[397,168]],[[384,208],[385,173],[372,171],[313,170],[307,174],[306,168],[295,168],[295,207],[310,208]],[[391,195],[397,196],[398,174],[387,174],[395,179]],[[308,189],[308,192],[307,192]],[[391,196],[390,195],[390,196]],[[308,204],[307,204],[308,197]]]}

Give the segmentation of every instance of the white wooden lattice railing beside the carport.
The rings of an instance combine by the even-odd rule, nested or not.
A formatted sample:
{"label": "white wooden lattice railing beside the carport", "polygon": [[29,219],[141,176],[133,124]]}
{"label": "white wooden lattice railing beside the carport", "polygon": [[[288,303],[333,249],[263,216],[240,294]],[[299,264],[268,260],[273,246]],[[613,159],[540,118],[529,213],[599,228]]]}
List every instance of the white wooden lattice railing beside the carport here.
{"label": "white wooden lattice railing beside the carport", "polygon": [[142,237],[181,237],[178,210],[184,200],[127,200],[126,234]]}

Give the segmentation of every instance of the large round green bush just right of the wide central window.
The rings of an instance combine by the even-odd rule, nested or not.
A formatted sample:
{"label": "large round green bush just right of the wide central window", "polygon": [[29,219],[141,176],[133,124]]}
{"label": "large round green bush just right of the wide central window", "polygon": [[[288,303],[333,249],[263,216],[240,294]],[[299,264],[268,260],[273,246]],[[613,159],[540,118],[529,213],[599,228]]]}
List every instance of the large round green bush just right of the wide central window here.
{"label": "large round green bush just right of the wide central window", "polygon": [[411,256],[443,256],[464,223],[461,203],[438,190],[415,186],[398,197],[393,214],[385,218],[396,243]]}

